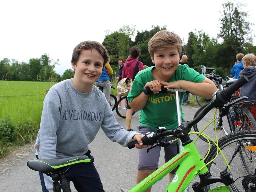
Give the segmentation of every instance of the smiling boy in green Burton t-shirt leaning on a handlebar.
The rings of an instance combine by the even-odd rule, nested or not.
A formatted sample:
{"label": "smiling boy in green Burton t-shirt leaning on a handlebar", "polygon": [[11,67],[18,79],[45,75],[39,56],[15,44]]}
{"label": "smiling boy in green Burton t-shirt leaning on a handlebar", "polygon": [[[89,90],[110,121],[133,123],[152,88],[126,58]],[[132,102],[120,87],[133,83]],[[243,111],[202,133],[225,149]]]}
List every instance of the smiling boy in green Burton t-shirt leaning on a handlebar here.
{"label": "smiling boy in green Burton t-shirt leaning on a handlebar", "polygon": [[[181,38],[167,30],[157,32],[148,42],[148,50],[155,66],[148,67],[136,75],[127,97],[133,111],[141,110],[139,133],[156,132],[155,126],[164,126],[167,130],[178,127],[175,94],[159,93],[161,86],[188,90],[204,98],[212,98],[212,94],[217,91],[210,79],[186,64],[179,64],[181,47]],[[145,91],[146,87],[150,87],[153,94],[148,95]],[[181,100],[183,95],[184,92],[180,94]],[[182,120],[184,120],[183,112]],[[155,147],[149,153],[146,152],[146,148],[138,151],[137,183],[158,168],[160,150],[161,147]],[[164,148],[164,151],[165,162],[167,162],[177,154],[177,146],[169,145]],[[170,181],[172,177],[173,173],[170,173]]]}

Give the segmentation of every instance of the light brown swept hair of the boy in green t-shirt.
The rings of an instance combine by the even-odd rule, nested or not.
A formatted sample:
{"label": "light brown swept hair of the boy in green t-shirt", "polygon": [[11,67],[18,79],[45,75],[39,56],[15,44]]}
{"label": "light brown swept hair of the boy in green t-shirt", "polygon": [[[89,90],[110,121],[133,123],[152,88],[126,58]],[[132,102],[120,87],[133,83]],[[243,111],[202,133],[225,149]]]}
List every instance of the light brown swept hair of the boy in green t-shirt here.
{"label": "light brown swept hair of the boy in green t-shirt", "polygon": [[148,42],[148,51],[153,58],[154,51],[161,50],[166,47],[176,46],[178,48],[179,57],[181,56],[182,41],[179,35],[167,31],[161,30],[157,32]]}

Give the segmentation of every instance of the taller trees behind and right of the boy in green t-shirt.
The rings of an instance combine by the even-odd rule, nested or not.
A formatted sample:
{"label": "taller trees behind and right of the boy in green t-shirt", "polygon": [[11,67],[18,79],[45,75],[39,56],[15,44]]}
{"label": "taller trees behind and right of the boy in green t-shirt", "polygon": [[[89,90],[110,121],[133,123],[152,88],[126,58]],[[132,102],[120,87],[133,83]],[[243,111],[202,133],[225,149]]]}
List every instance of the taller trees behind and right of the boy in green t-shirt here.
{"label": "taller trees behind and right of the boy in green t-shirt", "polygon": [[[256,46],[253,46],[253,35],[250,29],[253,24],[246,21],[247,13],[241,11],[243,6],[239,2],[234,4],[230,0],[222,4],[223,12],[219,18],[221,26],[217,38],[211,38],[203,30],[191,31],[188,34],[188,41],[183,42],[182,45],[182,55],[188,56],[188,65],[191,68],[201,65],[216,68],[217,73],[225,77],[230,75],[230,69],[236,62],[237,53],[256,54]],[[123,26],[119,31],[106,35],[103,45],[110,54],[112,68],[118,66],[119,57],[124,59],[128,57],[129,48],[132,46],[141,49],[139,60],[143,64],[153,66],[148,53],[148,41],[156,32],[165,29],[164,25],[162,27],[152,26],[149,31],[137,31],[135,41],[131,40],[135,31],[133,26]]]}

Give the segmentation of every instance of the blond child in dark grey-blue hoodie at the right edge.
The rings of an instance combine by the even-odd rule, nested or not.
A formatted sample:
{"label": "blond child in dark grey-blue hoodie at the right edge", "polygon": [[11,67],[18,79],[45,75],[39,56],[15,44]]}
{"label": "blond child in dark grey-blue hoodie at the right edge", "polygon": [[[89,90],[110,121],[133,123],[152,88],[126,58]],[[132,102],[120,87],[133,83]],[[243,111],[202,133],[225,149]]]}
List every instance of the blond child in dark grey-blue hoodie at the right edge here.
{"label": "blond child in dark grey-blue hoodie at the right edge", "polygon": [[[244,69],[240,72],[241,75],[245,75],[249,82],[246,83],[244,86],[240,88],[239,96],[246,96],[248,97],[248,101],[256,101],[256,56],[254,54],[246,54],[242,58],[242,62],[244,65]],[[251,114],[253,115],[254,119],[256,120],[256,108],[255,106],[251,106]]]}

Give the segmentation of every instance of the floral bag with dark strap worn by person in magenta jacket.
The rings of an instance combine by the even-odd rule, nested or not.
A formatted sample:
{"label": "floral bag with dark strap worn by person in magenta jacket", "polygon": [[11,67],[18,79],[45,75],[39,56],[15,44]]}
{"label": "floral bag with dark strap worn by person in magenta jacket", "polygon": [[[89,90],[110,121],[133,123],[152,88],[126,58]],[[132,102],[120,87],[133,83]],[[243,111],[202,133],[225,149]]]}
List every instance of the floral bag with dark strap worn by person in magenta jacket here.
{"label": "floral bag with dark strap worn by person in magenta jacket", "polygon": [[136,66],[135,66],[135,70],[134,70],[134,73],[133,73],[133,79],[124,78],[124,79],[121,79],[117,83],[117,94],[118,95],[122,95],[123,97],[128,95],[129,91],[132,88],[132,82],[135,78],[135,75],[137,74],[139,63],[140,63],[140,61],[137,61]]}

